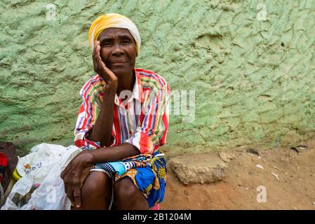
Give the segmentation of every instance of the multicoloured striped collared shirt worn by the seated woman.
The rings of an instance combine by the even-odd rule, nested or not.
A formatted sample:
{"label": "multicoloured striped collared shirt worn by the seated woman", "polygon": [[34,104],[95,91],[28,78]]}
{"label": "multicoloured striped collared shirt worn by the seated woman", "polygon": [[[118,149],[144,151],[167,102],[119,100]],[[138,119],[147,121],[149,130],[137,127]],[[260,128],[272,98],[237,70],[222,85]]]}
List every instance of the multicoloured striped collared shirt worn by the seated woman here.
{"label": "multicoloured striped collared shirt worn by the seated woman", "polygon": [[[81,88],[82,104],[74,130],[74,144],[80,148],[100,148],[100,142],[89,141],[91,131],[100,113],[105,81],[96,74]],[[121,92],[123,93],[123,92]],[[124,95],[124,94],[123,94]],[[126,95],[126,94],[125,94]],[[153,154],[166,143],[170,87],[153,71],[135,69],[133,92],[124,101],[116,94],[111,146],[133,144],[141,154]],[[123,97],[124,98],[124,97]]]}

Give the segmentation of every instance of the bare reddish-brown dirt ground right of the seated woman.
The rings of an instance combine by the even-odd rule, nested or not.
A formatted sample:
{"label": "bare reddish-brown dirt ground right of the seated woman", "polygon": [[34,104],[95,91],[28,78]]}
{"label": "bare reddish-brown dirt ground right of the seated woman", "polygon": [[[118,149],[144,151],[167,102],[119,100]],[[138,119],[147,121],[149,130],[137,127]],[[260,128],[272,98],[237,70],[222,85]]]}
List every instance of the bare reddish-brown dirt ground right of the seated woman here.
{"label": "bare reddish-brown dirt ground right of the seated woman", "polygon": [[[184,186],[168,169],[161,209],[315,209],[315,140],[302,144],[308,146],[302,153],[256,148],[260,158],[246,149],[228,151],[235,159],[217,183]],[[257,202],[258,194],[263,199],[259,186],[265,187],[266,202]]]}

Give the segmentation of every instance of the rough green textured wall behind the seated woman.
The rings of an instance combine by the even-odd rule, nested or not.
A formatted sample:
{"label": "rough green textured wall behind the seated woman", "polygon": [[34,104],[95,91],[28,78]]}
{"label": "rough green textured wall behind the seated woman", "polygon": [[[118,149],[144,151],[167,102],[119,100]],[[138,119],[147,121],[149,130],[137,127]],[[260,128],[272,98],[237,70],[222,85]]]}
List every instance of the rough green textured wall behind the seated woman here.
{"label": "rough green textured wall behind the seated woman", "polygon": [[113,12],[138,25],[138,67],[195,91],[194,121],[170,117],[168,151],[314,137],[315,1],[60,0],[56,20],[48,3],[0,1],[0,140],[21,154],[73,143],[79,90],[93,75],[88,28]]}

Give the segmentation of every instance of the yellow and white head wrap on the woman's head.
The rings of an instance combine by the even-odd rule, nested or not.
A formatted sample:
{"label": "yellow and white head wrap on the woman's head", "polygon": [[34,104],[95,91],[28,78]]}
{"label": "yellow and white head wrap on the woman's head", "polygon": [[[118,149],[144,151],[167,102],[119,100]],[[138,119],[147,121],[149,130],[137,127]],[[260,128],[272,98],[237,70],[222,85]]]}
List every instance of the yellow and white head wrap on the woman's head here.
{"label": "yellow and white head wrap on the woman's head", "polygon": [[135,39],[135,48],[137,49],[137,53],[139,55],[141,38],[138,28],[135,26],[133,21],[126,18],[126,16],[117,13],[101,15],[94,20],[90,27],[90,31],[88,31],[88,43],[90,43],[91,48],[94,48],[94,42],[98,39],[100,33],[104,29],[111,27],[128,29]]}

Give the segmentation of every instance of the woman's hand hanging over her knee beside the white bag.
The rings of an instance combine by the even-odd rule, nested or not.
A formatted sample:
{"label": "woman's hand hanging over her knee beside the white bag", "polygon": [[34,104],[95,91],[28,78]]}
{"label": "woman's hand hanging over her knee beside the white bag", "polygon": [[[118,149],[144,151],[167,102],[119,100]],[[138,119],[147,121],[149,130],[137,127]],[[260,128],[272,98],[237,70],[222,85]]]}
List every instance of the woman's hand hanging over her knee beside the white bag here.
{"label": "woman's hand hanging over her knee beside the white bag", "polygon": [[69,162],[60,175],[65,183],[65,193],[76,207],[81,207],[81,188],[93,166],[92,161],[91,152],[83,151]]}

